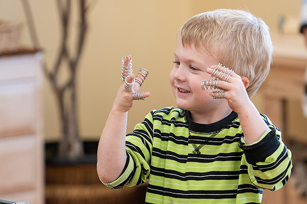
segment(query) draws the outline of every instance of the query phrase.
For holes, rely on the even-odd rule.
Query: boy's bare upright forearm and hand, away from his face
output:
[[[127,56],[124,65],[128,66],[131,56]],[[128,77],[128,83],[133,81],[134,74]],[[109,183],[116,180],[122,173],[126,163],[125,135],[127,112],[133,106],[132,93],[139,91],[140,85],[135,83],[131,91],[124,90],[124,82],[117,92],[111,112],[102,131],[97,152],[97,173],[100,180]],[[149,92],[144,93],[148,97]]]

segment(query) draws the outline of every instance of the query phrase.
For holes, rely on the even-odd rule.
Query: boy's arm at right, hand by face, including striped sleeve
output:
[[[212,68],[207,72],[212,73]],[[244,150],[250,179],[259,188],[277,190],[289,178],[291,151],[282,143],[280,131],[268,118],[260,115],[250,100],[246,91],[249,80],[233,73],[226,81],[221,79],[217,86],[226,90],[224,97],[238,114],[244,134],[240,147]]]

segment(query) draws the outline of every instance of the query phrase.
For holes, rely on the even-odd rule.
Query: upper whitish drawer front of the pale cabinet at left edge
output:
[[[36,97],[34,80],[0,83],[0,138],[35,132]]]

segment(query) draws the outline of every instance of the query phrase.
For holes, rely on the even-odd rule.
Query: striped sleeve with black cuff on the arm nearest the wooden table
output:
[[[289,180],[291,151],[281,141],[280,130],[267,116],[262,114],[262,117],[270,130],[253,144],[247,145],[244,138],[241,138],[239,145],[244,151],[251,182],[261,189],[278,190]]]

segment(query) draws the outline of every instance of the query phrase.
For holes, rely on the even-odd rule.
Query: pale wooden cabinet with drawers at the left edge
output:
[[[0,55],[0,199],[44,202],[41,59],[29,49]]]

